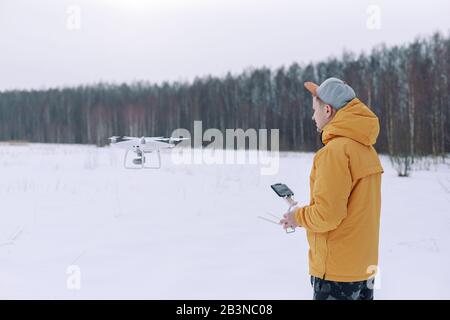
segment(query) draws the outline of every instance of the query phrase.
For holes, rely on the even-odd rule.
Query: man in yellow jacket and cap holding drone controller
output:
[[[280,224],[306,229],[315,300],[372,300],[383,173],[373,147],[379,121],[342,80],[305,87],[324,146],[314,156],[310,204],[294,207]]]

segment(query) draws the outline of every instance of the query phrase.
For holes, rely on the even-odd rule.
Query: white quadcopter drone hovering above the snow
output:
[[[176,146],[177,142],[183,140],[189,140],[189,138],[166,138],[166,137],[126,137],[126,136],[113,136],[110,137],[111,145],[126,149],[123,166],[126,169],[159,169],[161,168],[161,149],[171,149]],[[129,165],[128,154],[130,151],[135,153],[132,163]],[[153,166],[146,165],[146,153],[156,152],[158,163]]]

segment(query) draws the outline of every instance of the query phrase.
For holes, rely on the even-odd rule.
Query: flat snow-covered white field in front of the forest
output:
[[[286,209],[275,182],[308,203],[312,153],[282,153],[273,176],[169,153],[160,170],[126,170],[122,157],[0,145],[0,298],[311,299],[305,231],[256,217]],[[375,297],[449,299],[450,168],[398,178],[381,159]]]

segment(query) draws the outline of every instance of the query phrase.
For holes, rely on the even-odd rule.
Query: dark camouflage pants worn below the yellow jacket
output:
[[[311,276],[313,300],[373,300],[374,281],[337,282]]]

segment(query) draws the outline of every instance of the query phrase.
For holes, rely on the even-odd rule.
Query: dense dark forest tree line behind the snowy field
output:
[[[305,81],[344,79],[380,119],[378,152],[444,157],[450,150],[450,38],[435,33],[369,54],[195,78],[0,92],[0,140],[107,143],[113,135],[168,136],[174,129],[280,129],[280,149],[321,146]]]

